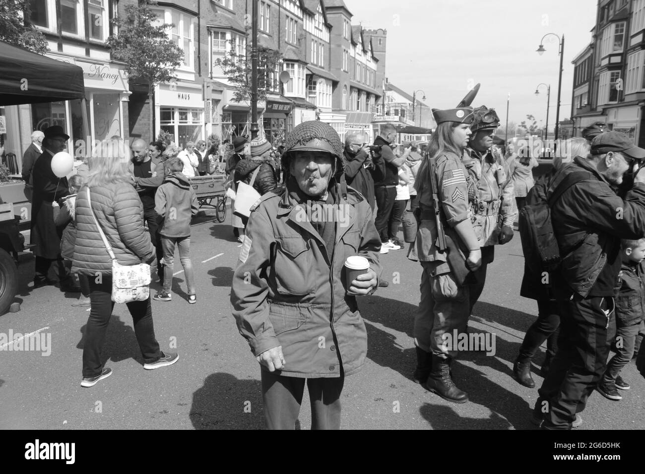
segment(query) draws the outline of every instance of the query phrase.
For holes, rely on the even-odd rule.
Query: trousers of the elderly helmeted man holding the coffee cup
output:
[[[262,370],[264,426],[267,430],[294,430],[307,381],[312,406],[312,430],[341,429],[341,391],[344,377],[301,379]]]

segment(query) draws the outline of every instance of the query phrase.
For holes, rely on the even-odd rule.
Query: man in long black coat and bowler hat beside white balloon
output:
[[[70,139],[63,127],[54,125],[45,130],[43,153],[37,157],[32,177],[34,183],[34,202],[32,203],[31,242],[35,244],[34,288],[54,284],[48,277],[52,262],[58,266],[59,283],[66,291],[80,291],[74,286],[69,271],[64,267],[61,257],[61,233],[54,222],[53,202],[68,195],[67,178],[59,178],[52,171],[52,158],[62,152]]]

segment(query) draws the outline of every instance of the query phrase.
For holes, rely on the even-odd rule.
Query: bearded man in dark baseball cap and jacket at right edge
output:
[[[604,132],[593,139],[588,157],[575,157],[553,179],[552,188],[559,183],[569,187],[551,206],[562,255],[553,276],[562,343],[531,417],[544,429],[570,429],[604,373],[607,332],[615,317],[620,239],[640,239],[645,230],[645,171],[635,175],[624,200],[612,186],[620,186],[635,161],[644,159],[645,150],[624,133]]]

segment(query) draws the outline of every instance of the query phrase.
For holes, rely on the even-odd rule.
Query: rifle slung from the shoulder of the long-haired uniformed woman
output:
[[[437,224],[437,248],[439,252],[446,253],[446,262],[450,266],[450,271],[459,286],[470,282],[470,269],[466,266],[466,257],[461,251],[457,242],[460,239],[455,235],[455,231],[446,230],[442,221],[441,203],[439,202],[439,183],[437,181],[437,159],[430,159],[430,190],[432,191],[432,201],[435,213],[435,222]]]

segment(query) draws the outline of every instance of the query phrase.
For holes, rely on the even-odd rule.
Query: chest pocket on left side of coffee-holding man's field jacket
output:
[[[313,291],[311,245],[301,235],[275,237],[275,282],[277,290],[285,295],[303,296]]]

